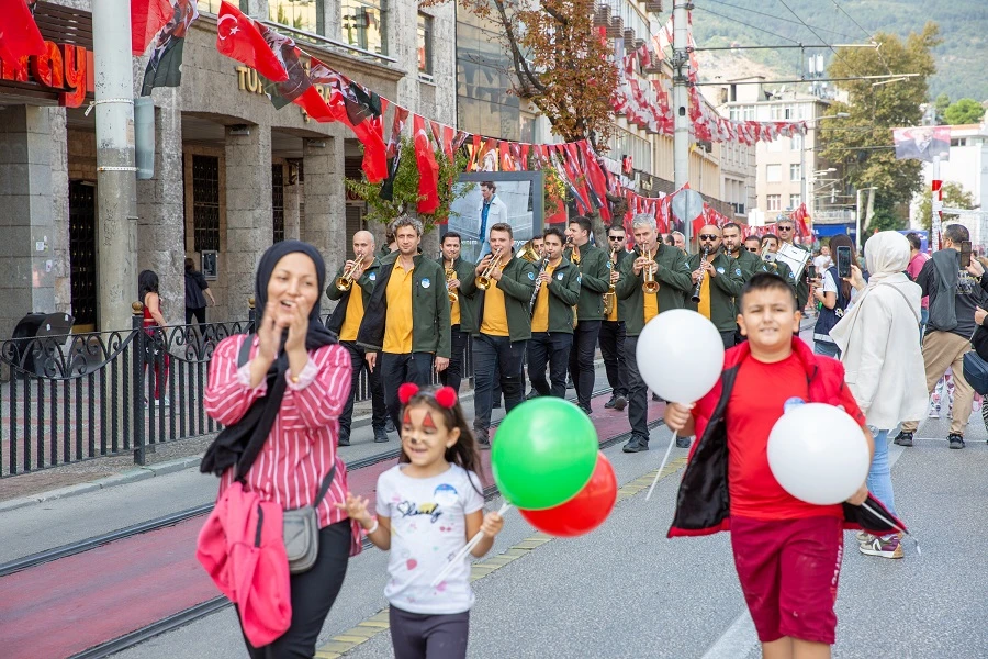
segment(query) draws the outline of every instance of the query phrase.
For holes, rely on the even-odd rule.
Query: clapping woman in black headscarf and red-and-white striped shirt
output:
[[[292,624],[252,659],[310,658],[343,585],[359,529],[334,504],[346,501],[346,466],[336,455],[337,421],[350,387],[350,356],[319,319],[326,267],[297,241],[278,243],[258,264],[257,335],[224,339],[210,362],[206,413],[225,429],[210,446],[202,471],[221,476],[220,496],[239,480],[265,501],[291,510],[312,505],[336,465],[319,503],[319,550],[306,572],[291,576]],[[245,340],[250,348],[242,347]]]

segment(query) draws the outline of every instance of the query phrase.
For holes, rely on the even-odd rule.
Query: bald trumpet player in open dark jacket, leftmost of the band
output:
[[[374,290],[374,282],[381,272],[381,261],[374,258],[374,236],[369,231],[358,231],[353,234],[353,259],[336,271],[329,286],[326,287],[326,297],[336,301],[336,309],[329,316],[326,326],[339,336],[339,345],[350,354],[350,366],[353,376],[350,380],[350,393],[347,404],[339,415],[339,445],[350,445],[350,427],[353,421],[353,398],[360,384],[360,373],[367,369],[368,383],[371,391],[371,425],[374,428],[374,442],[388,442],[388,433],[384,429],[388,420],[388,406],[384,404],[384,384],[381,382],[381,373],[373,370],[367,362],[367,350],[357,344],[357,332],[363,321],[363,310],[370,302]],[[349,275],[350,288],[340,289],[337,282],[344,273]]]

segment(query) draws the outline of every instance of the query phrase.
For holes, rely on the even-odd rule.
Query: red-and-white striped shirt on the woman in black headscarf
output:
[[[268,389],[266,380],[250,387],[250,361],[237,368],[240,345],[247,335],[231,336],[220,343],[210,360],[210,379],[203,404],[206,414],[225,426],[244,417],[250,405]],[[250,359],[257,355],[254,337]],[[308,364],[288,388],[281,410],[257,459],[246,474],[245,489],[257,492],[265,501],[281,504],[284,510],[312,505],[323,478],[334,461],[336,474],[318,507],[319,527],[347,518],[346,511],[334,504],[347,499],[347,468],[337,456],[339,414],[350,393],[351,366],[346,348],[334,344],[308,353]],[[220,493],[234,481],[234,469],[220,479]],[[217,500],[218,500],[217,496]],[[353,523],[350,555],[360,551],[360,528]]]

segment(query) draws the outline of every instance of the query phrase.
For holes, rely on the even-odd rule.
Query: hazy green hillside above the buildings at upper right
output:
[[[930,98],[946,92],[955,100],[988,99],[986,0],[939,2],[935,11],[931,11],[929,0],[696,0],[695,4],[693,30],[699,48],[731,44],[867,43],[875,32],[905,37],[921,31],[928,20],[934,20],[940,25],[943,44],[934,51],[938,71],[930,80]],[[807,55],[818,53],[823,54],[828,64],[833,57],[827,48],[807,51]],[[798,76],[801,66],[806,66],[800,64],[798,48],[748,51],[745,55],[786,77]],[[706,78],[703,71],[700,75]]]

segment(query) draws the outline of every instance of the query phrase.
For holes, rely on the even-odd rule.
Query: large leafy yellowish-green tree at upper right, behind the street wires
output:
[[[824,159],[844,165],[845,178],[855,188],[878,188],[878,209],[905,206],[922,189],[919,160],[896,160],[891,147],[891,129],[918,125],[920,105],[928,96],[927,81],[936,68],[931,49],[941,43],[935,23],[927,23],[919,34],[903,42],[894,34],[877,33],[880,53],[873,48],[838,48],[831,63],[831,78],[857,78],[892,74],[919,74],[888,85],[873,86],[873,80],[846,80],[835,85],[846,91],[849,103],[831,104],[829,114],[846,112],[845,119],[822,123]]]

